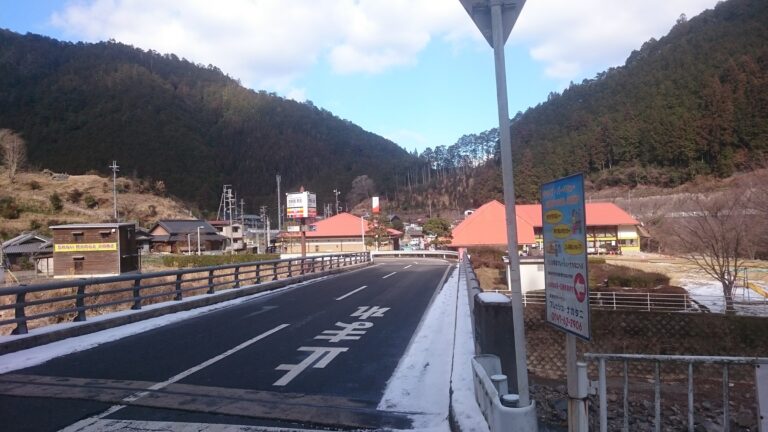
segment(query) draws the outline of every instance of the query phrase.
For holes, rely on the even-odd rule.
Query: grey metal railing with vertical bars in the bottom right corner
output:
[[[728,431],[730,425],[730,401],[729,401],[729,376],[728,368],[732,365],[751,365],[755,369],[755,392],[759,402],[757,412],[757,424],[762,425],[759,430],[768,427],[768,401],[760,398],[760,394],[768,394],[768,374],[761,372],[760,368],[768,369],[768,358],[759,357],[709,357],[709,356],[670,356],[670,355],[641,355],[641,354],[594,354],[585,353],[584,357],[598,362],[598,398],[599,398],[599,424],[600,431],[608,431],[608,396],[606,390],[606,362],[623,363],[623,425],[622,430],[629,430],[629,362],[651,362],[653,369],[654,386],[654,430],[661,431],[661,376],[662,363],[684,363],[688,366],[688,430],[694,431],[694,364],[719,364],[722,366],[722,394],[723,394],[723,430]],[[758,426],[760,428],[760,426]]]

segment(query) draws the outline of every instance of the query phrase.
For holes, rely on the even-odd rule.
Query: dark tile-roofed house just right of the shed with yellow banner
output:
[[[159,253],[219,252],[227,240],[201,219],[161,220],[149,233],[152,235],[151,250]]]

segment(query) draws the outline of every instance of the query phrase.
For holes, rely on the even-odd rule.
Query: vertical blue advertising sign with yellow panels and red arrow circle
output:
[[[589,278],[584,176],[541,186],[547,322],[589,340]]]

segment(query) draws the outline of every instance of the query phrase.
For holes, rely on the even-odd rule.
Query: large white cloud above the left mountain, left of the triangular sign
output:
[[[469,33],[463,13],[443,0],[81,0],[51,21],[78,39],[174,53],[287,91],[320,59],[337,73],[413,64],[434,35]]]

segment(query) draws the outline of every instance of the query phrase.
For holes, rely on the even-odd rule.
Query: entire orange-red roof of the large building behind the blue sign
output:
[[[613,203],[587,203],[587,226],[639,225],[640,223]],[[534,227],[541,228],[541,205],[516,205],[517,243],[534,244]],[[504,204],[491,201],[478,208],[453,229],[452,247],[506,246],[507,228]]]

